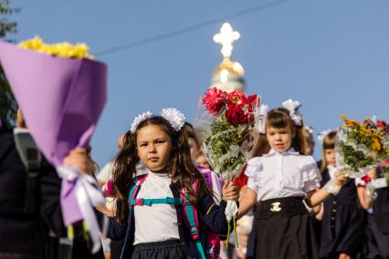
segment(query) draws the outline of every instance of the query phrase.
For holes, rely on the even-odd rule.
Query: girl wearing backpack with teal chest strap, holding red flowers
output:
[[[114,240],[125,237],[121,258],[204,258],[196,232],[198,238],[203,228],[222,236],[228,231],[226,200],[237,201],[237,187],[226,182],[224,201],[215,204],[191,160],[183,127],[180,111],[163,109],[161,116],[145,112],[135,118],[124,136],[114,162],[117,211],[109,232]],[[139,161],[148,170],[145,177],[135,177]],[[198,227],[186,226],[191,208]]]

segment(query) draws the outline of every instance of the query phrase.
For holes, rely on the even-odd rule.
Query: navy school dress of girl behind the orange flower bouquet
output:
[[[321,185],[330,181],[324,171]],[[321,258],[338,258],[345,253],[355,258],[363,250],[365,212],[358,202],[355,181],[348,179],[338,195],[331,195],[324,204],[321,221]]]

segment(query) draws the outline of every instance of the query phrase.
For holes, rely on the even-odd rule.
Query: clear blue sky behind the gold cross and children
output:
[[[276,3],[268,8],[258,5]],[[246,70],[247,93],[270,107],[300,100],[315,132],[352,119],[389,119],[389,1],[387,0],[131,0],[13,1],[21,12],[16,41],[85,42],[92,54],[110,47],[216,21],[188,33],[98,56],[109,67],[108,102],[92,139],[102,166],[140,112],[164,107],[188,120],[221,62],[212,37],[223,22],[240,32],[232,59]],[[244,16],[224,19],[241,10]],[[257,11],[254,11],[257,10]],[[317,145],[315,156],[320,156]]]

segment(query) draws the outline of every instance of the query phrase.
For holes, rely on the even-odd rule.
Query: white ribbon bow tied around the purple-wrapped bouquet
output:
[[[89,228],[89,235],[93,243],[91,253],[96,254],[101,247],[100,226],[93,207],[104,204],[104,195],[97,181],[92,176],[80,174],[77,169],[64,165],[58,166],[57,171],[59,177],[63,178],[64,181],[76,181],[75,194],[79,204],[79,210]],[[103,235],[107,233],[108,223],[108,218],[104,215],[104,223],[101,231]]]

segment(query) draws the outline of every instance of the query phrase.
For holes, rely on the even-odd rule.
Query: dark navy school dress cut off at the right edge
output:
[[[373,212],[367,216],[366,258],[389,258],[389,187],[376,189],[375,194]]]

